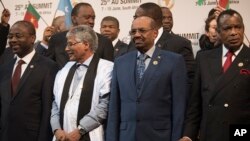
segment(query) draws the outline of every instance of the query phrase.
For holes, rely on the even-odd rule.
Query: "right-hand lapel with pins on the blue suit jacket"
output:
[[[143,93],[143,91],[146,90],[148,87],[150,80],[152,79],[153,75],[155,74],[155,71],[160,65],[161,61],[161,51],[159,48],[155,48],[155,51],[153,53],[153,56],[151,58],[151,61],[149,62],[148,68],[146,69],[143,78],[142,78],[142,88],[141,91],[138,94],[138,97],[140,97]]]

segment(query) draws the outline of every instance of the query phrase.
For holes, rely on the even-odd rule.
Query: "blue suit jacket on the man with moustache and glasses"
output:
[[[183,58],[156,48],[142,85],[136,62],[137,51],[115,60],[106,141],[178,140],[187,97]]]

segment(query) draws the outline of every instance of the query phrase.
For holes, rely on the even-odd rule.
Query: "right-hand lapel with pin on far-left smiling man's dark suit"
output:
[[[22,86],[25,84],[26,79],[29,77],[30,73],[34,70],[35,67],[37,66],[37,61],[39,60],[39,56],[37,53],[35,53],[35,55],[33,56],[33,58],[31,59],[30,63],[28,64],[26,70],[24,71],[20,82],[17,86],[17,90],[16,90],[16,94],[14,94],[14,97],[12,98],[12,100],[19,94],[20,89],[22,88]]]

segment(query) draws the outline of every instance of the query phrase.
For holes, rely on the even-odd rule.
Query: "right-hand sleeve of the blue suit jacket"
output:
[[[183,57],[179,57],[172,72],[172,141],[181,138],[187,102],[187,72]]]

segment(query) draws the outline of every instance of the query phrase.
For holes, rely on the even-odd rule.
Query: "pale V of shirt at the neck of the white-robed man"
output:
[[[74,80],[73,80],[72,94],[74,94],[79,82],[81,81],[83,77],[84,68],[88,68],[88,66],[85,64],[77,64],[77,69],[75,71]]]

